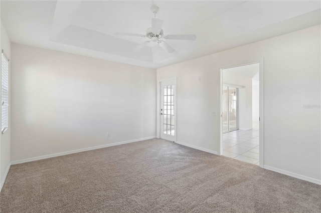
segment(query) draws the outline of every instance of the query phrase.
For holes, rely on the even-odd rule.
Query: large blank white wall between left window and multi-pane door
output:
[[[12,94],[12,161],[155,136],[152,68],[13,43]]]

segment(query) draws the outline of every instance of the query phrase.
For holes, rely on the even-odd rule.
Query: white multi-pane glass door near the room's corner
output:
[[[176,80],[161,82],[161,138],[176,142]]]

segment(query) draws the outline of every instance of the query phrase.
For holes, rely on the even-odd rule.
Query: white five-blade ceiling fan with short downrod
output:
[[[116,32],[117,35],[129,35],[129,36],[138,36],[138,37],[147,37],[149,40],[139,44],[136,46],[133,51],[138,51],[144,46],[146,46],[150,41],[157,43],[163,49],[165,49],[168,53],[172,53],[175,49],[170,46],[164,39],[172,39],[172,40],[195,40],[195,34],[178,34],[178,35],[164,35],[164,30],[162,29],[164,20],[156,18],[156,13],[159,11],[158,6],[151,6],[151,11],[154,13],[154,17],[151,19],[151,27],[146,29],[146,34],[134,34],[134,33],[125,33],[125,32]]]

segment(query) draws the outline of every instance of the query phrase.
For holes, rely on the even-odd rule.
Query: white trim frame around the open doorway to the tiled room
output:
[[[260,167],[264,168],[264,85],[263,85],[263,79],[264,79],[264,75],[263,75],[263,62],[264,62],[264,58],[256,58],[256,59],[252,59],[252,60],[246,60],[246,61],[239,61],[239,62],[234,62],[232,64],[228,64],[225,66],[222,66],[220,68],[220,93],[219,93],[219,99],[220,99],[220,152],[219,154],[222,155],[223,153],[223,128],[222,128],[222,92],[223,92],[223,69],[226,68],[232,68],[232,67],[236,67],[236,66],[242,66],[242,65],[248,65],[248,64],[252,64],[252,63],[259,63],[259,73],[260,73],[260,79],[259,79],[259,83],[260,83],[260,100],[259,100],[259,109],[260,109],[260,122],[259,122],[259,133],[260,133],[260,137],[259,137],[259,145],[260,145],[260,159],[259,159],[259,165]]]

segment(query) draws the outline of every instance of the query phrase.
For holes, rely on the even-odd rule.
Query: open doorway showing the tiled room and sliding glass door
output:
[[[221,69],[222,154],[256,165],[263,154],[259,122],[262,71],[260,62]]]

